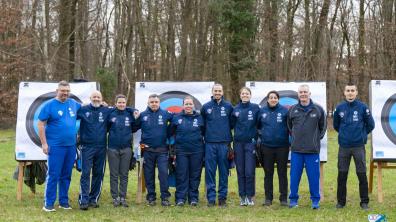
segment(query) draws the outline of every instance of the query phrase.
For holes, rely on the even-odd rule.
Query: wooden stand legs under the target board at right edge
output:
[[[372,153],[373,149],[371,149]],[[370,172],[369,172],[369,193],[373,193],[374,170],[377,169],[377,196],[378,202],[384,202],[384,193],[382,190],[382,170],[396,169],[395,161],[388,160],[374,160],[373,155],[370,157]]]

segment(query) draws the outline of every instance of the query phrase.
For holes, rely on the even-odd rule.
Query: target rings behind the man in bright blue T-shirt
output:
[[[41,141],[38,135],[38,127],[37,127],[37,123],[39,120],[38,116],[44,105],[47,104],[51,99],[55,98],[55,96],[56,96],[56,92],[50,92],[37,97],[37,99],[35,99],[32,105],[29,107],[29,110],[26,114],[25,126],[26,126],[27,134],[29,135],[29,138],[34,142],[34,144],[36,144],[39,147],[41,147]],[[82,103],[81,100],[73,94],[70,94],[70,98],[73,98],[77,102]],[[77,128],[78,127],[79,126],[77,126]]]

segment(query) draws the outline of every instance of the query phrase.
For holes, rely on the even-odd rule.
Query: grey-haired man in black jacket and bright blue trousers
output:
[[[287,126],[291,132],[289,207],[298,206],[298,187],[305,167],[312,209],[320,203],[320,140],[326,133],[326,115],[323,108],[311,100],[308,85],[298,88],[298,104],[289,109]]]

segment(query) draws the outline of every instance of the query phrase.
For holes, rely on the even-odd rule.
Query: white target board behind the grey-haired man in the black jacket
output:
[[[319,104],[326,111],[326,82],[246,82],[246,87],[252,91],[251,102],[257,103],[262,107],[267,102],[267,93],[276,90],[279,93],[279,103],[283,106],[290,107],[297,104],[298,87],[307,84],[311,91],[311,99]],[[320,141],[320,161],[327,161],[327,131],[323,139]]]

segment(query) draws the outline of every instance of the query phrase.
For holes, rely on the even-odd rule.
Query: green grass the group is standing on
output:
[[[228,207],[206,207],[203,181],[200,187],[200,206],[192,208],[161,206],[147,207],[145,204],[135,204],[136,171],[130,173],[128,186],[129,208],[114,208],[111,205],[110,185],[108,170],[106,172],[103,192],[100,200],[100,208],[88,211],[78,210],[78,189],[80,174],[73,172],[72,184],[69,197],[71,211],[57,210],[55,213],[45,213],[41,210],[43,204],[44,186],[38,186],[36,195],[30,193],[27,186],[23,188],[22,201],[16,200],[16,181],[12,179],[17,162],[14,158],[15,133],[11,130],[0,131],[0,221],[367,221],[368,214],[386,214],[388,221],[396,218],[396,174],[395,170],[383,171],[384,203],[377,201],[376,186],[370,195],[370,207],[368,212],[359,207],[358,183],[355,175],[355,166],[351,164],[348,180],[347,207],[342,210],[335,209],[336,181],[337,181],[337,141],[334,132],[329,133],[328,163],[325,164],[324,194],[325,200],[321,202],[320,210],[310,208],[309,190],[307,178],[304,176],[300,185],[299,207],[288,209],[279,206],[277,178],[274,178],[274,204],[271,207],[263,207],[264,199],[263,170],[256,172],[256,206],[238,206],[238,188],[236,172],[232,171],[229,177]],[[369,156],[369,152],[367,152]],[[202,176],[204,173],[202,174]],[[202,177],[203,178],[203,177]],[[376,185],[376,178],[374,177]],[[158,184],[157,184],[158,189]],[[170,189],[172,196],[174,188]],[[158,195],[158,192],[157,192]],[[173,199],[172,199],[173,200]]]

